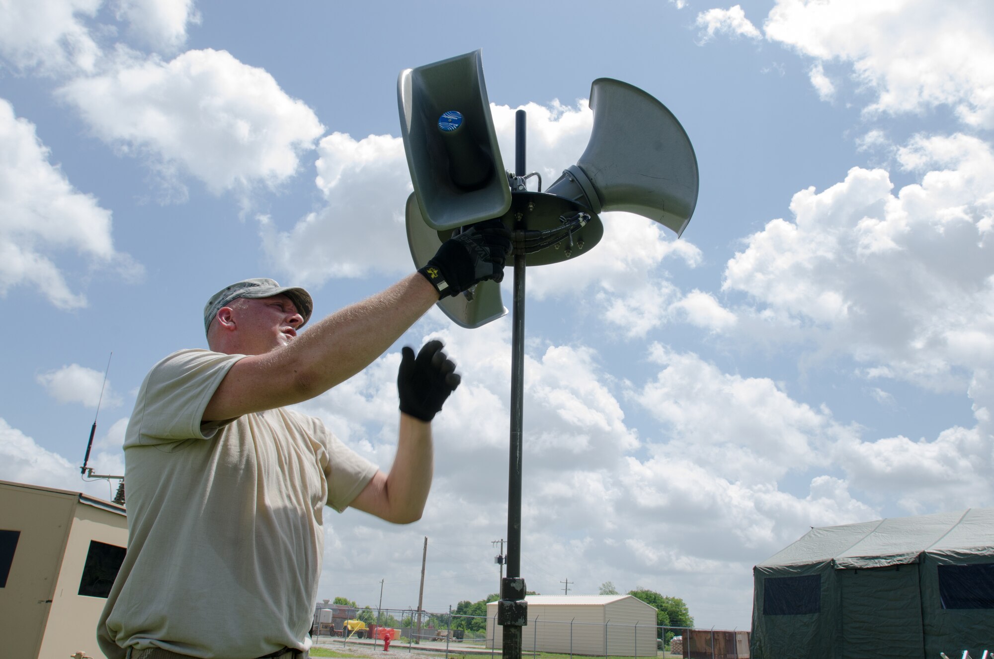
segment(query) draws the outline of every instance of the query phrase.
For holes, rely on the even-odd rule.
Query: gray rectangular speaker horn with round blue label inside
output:
[[[511,207],[482,51],[401,72],[401,136],[421,217],[449,230],[500,217]]]

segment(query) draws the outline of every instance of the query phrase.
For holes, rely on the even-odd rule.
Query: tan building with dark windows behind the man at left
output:
[[[126,546],[122,506],[0,481],[0,656],[101,659],[96,621]]]

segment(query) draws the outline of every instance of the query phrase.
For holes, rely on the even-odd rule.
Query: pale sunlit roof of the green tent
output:
[[[832,560],[858,565],[861,558],[886,557],[891,564],[917,562],[924,551],[989,549],[994,541],[994,508],[890,518],[811,529],[757,567],[801,565]]]

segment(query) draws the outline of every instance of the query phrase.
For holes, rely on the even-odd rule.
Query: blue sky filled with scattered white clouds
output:
[[[413,265],[396,81],[483,49],[505,163],[551,182],[590,83],[662,101],[700,165],[681,240],[605,213],[528,275],[523,575],[644,586],[749,624],[750,568],[811,526],[991,506],[994,9],[980,0],[535,3],[0,0],[0,479],[109,497],[148,368],[205,344],[232,281],[316,314]],[[510,299],[510,280],[505,299]],[[301,407],[388,467],[400,346],[442,337],[424,518],[330,515],[322,597],[496,590],[510,318],[437,310]]]

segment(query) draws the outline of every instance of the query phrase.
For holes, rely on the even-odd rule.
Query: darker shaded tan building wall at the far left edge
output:
[[[20,532],[7,583],[0,588],[4,656],[38,656],[74,508],[76,497],[70,494],[0,483],[0,529]]]

